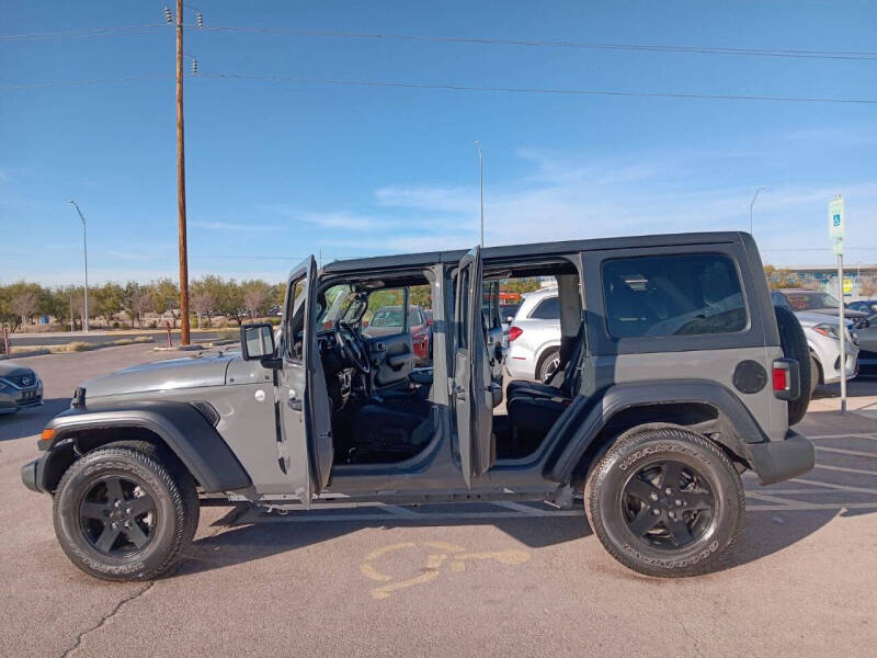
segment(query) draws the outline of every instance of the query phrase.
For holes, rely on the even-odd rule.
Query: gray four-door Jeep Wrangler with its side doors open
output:
[[[503,388],[498,284],[555,277],[561,364]],[[432,367],[368,309],[432,300]],[[399,293],[396,297],[390,294]],[[406,320],[407,325],[408,320]],[[405,329],[405,327],[402,327]],[[200,504],[517,500],[568,507],[650,576],[715,569],[739,535],[740,475],[813,467],[789,427],[809,401],[795,316],[774,309],[752,238],[711,232],[475,248],[289,275],[283,321],[240,352],[87,382],[22,468],[61,547],[111,580],[155,578]],[[503,405],[504,401],[504,405]]]

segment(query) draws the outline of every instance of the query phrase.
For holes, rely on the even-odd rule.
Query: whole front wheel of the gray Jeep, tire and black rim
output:
[[[73,462],[53,508],[55,532],[70,560],[106,580],[166,572],[197,523],[194,483],[175,470],[149,444],[144,450],[111,444]]]

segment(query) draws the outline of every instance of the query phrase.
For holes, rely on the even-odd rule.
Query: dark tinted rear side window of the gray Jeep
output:
[[[615,338],[743,331],[749,320],[733,262],[717,253],[603,263],[606,327]]]

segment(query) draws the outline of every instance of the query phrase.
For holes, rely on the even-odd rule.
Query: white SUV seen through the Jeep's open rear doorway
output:
[[[547,382],[560,364],[560,305],[556,287],[525,293],[509,327],[505,370],[515,379]]]

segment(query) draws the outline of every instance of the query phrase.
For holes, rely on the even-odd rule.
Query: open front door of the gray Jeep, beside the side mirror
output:
[[[305,507],[329,483],[334,449],[331,408],[317,337],[317,262],[305,259],[292,274],[284,305],[283,368],[277,373],[277,447],[288,491]]]

